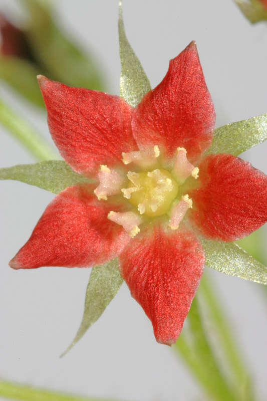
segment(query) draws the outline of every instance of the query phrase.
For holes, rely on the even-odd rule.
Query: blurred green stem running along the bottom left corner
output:
[[[4,380],[0,380],[0,395],[9,399],[24,401],[104,401],[103,398],[67,395],[56,391],[37,389],[28,385],[11,383]],[[105,401],[108,400],[105,399]]]

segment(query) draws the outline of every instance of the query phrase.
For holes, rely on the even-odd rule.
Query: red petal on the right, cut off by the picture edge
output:
[[[235,241],[267,221],[267,176],[230,154],[214,154],[199,165],[199,189],[191,216],[213,240]]]

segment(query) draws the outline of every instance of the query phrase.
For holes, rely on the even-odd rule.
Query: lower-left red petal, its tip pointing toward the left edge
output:
[[[91,185],[75,185],[57,195],[10,266],[92,267],[116,257],[130,238],[107,219],[110,210],[120,208],[92,193]]]

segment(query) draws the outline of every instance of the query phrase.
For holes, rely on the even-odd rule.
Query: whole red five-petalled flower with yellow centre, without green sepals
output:
[[[62,156],[95,183],[56,196],[11,267],[91,267],[119,255],[156,340],[174,343],[204,268],[199,238],[233,241],[260,227],[267,177],[230,154],[205,156],[215,113],[194,42],[136,108],[42,76],[40,86]]]

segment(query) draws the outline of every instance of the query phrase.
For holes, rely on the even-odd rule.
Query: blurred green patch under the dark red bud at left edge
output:
[[[36,79],[40,69],[19,57],[0,56],[0,78],[39,107],[45,107]]]

